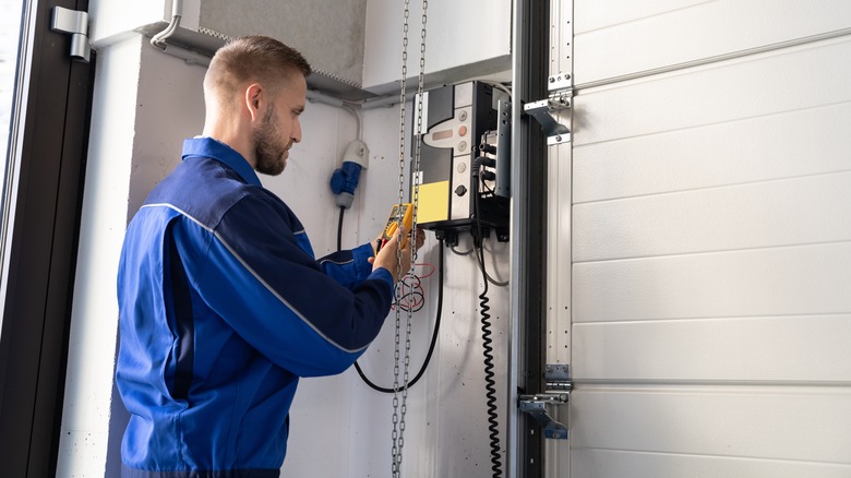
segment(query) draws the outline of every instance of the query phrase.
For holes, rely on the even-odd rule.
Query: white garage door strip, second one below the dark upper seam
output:
[[[851,170],[849,124],[846,101],[578,146],[574,203]]]

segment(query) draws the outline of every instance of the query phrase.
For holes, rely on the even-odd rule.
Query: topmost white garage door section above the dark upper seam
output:
[[[628,4],[624,7],[624,3]],[[575,84],[706,61],[851,27],[851,3],[819,0],[576,2]]]

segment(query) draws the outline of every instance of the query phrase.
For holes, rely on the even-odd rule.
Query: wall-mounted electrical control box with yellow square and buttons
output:
[[[490,84],[467,82],[424,92],[417,101],[417,224],[455,232],[477,232],[480,225],[507,240],[510,98]]]

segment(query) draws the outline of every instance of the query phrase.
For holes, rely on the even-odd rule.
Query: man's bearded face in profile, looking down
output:
[[[268,104],[253,131],[257,172],[277,176],[287,166],[289,148],[301,141],[299,116],[304,110],[307,89],[304,77],[293,75]]]

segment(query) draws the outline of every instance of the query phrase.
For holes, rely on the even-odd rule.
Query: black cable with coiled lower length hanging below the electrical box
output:
[[[482,235],[481,227],[481,211],[479,207],[479,170],[482,163],[487,158],[476,158],[472,162],[471,175],[474,190],[474,207],[476,212],[476,229],[478,237],[474,238],[474,248],[477,248],[477,259],[481,266],[482,282],[484,283],[484,289],[479,294],[479,313],[481,314],[481,342],[484,355],[484,391],[486,391],[486,406],[488,408],[488,431],[491,447],[491,471],[493,471],[494,478],[502,477],[502,458],[500,456],[500,421],[496,414],[496,380],[493,372],[493,338],[491,338],[491,314],[489,311],[491,307],[488,304],[490,299],[488,298],[488,272],[484,268],[484,237]],[[476,244],[478,242],[478,247]]]

